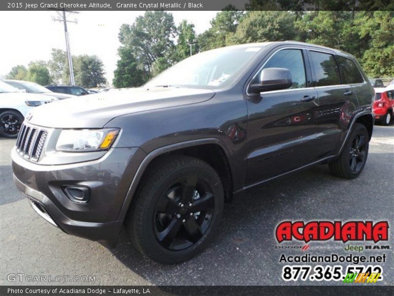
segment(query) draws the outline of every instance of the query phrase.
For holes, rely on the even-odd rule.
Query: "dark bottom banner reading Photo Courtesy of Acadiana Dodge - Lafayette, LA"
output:
[[[61,293],[61,289],[66,292]],[[88,290],[90,289],[90,290]],[[119,289],[129,291],[128,294]],[[147,292],[149,289],[149,293]],[[34,291],[42,290],[41,293]],[[84,291],[81,293],[81,291]],[[138,290],[139,294],[136,293]],[[18,292],[19,291],[19,292]],[[49,291],[49,293],[47,293]],[[55,292],[56,291],[56,292]],[[105,292],[104,292],[105,291]],[[1,286],[1,296],[260,296],[260,295],[368,295],[392,296],[393,286],[342,284],[341,286]]]

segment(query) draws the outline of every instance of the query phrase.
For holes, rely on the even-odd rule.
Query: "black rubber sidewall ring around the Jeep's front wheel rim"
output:
[[[156,239],[153,230],[154,211],[157,201],[162,196],[164,190],[166,190],[168,186],[173,182],[186,176],[196,176],[204,180],[208,185],[210,185],[215,196],[215,209],[207,231],[196,244],[184,250],[171,251],[162,247]],[[185,165],[179,169],[174,170],[173,172],[162,178],[157,184],[155,184],[155,186],[151,190],[149,190],[149,195],[147,199],[144,200],[142,214],[143,221],[141,221],[142,227],[140,228],[141,233],[139,233],[139,237],[141,238],[141,244],[144,246],[149,246],[150,248],[150,254],[148,254],[148,257],[154,257],[158,260],[166,258],[170,259],[170,261],[173,262],[181,262],[193,257],[203,248],[203,245],[205,245],[207,240],[210,238],[210,234],[213,233],[218,227],[219,220],[223,211],[223,206],[223,186],[219,176],[213,169],[207,170],[207,168],[198,164]]]

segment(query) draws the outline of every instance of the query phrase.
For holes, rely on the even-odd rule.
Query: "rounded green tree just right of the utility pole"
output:
[[[96,55],[79,55],[73,58],[75,84],[86,88],[105,85],[104,65]]]

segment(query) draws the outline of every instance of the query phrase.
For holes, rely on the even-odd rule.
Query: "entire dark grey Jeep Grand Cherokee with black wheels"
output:
[[[310,165],[357,177],[374,92],[355,58],[299,42],[215,49],[144,86],[35,109],[12,150],[17,187],[66,233],[163,263],[212,238],[225,200]],[[78,102],[76,102],[76,100]]]

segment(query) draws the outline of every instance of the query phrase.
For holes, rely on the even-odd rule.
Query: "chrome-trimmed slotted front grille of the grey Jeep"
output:
[[[16,140],[16,151],[31,161],[38,161],[47,135],[46,130],[22,124]]]

